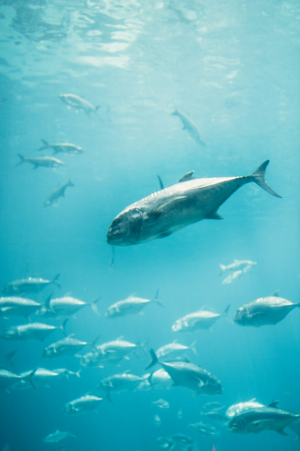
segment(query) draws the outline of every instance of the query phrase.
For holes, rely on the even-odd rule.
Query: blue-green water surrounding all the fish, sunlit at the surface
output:
[[[185,433],[199,450],[297,450],[299,442],[274,431],[232,434],[217,426],[214,437],[194,433],[201,407],[226,407],[257,398],[280,400],[300,411],[300,312],[275,326],[240,327],[221,318],[212,331],[175,336],[176,319],[202,306],[233,317],[242,304],[279,289],[299,302],[300,8],[298,1],[4,0],[0,5],[1,276],[0,286],[23,277],[52,279],[32,299],[72,293],[90,302],[101,296],[101,317],[85,308],[71,317],[67,333],[88,342],[124,336],[157,349],[178,338],[197,340],[195,364],[216,375],[222,396],[193,396],[184,387],[112,393],[97,412],[62,413],[65,403],[91,392],[105,396],[103,377],[130,370],[142,376],[150,360],[139,353],[120,366],[82,368],[50,388],[0,393],[0,448],[58,449],[42,439],[56,429],[76,435],[67,450],[159,450],[157,437]],[[72,93],[100,105],[99,117],[76,113],[59,99]],[[178,108],[197,124],[206,147],[189,139]],[[37,152],[40,139],[83,147],[59,153],[64,166],[18,167],[18,153]],[[255,184],[239,189],[220,207],[225,221],[202,221],[137,246],[106,242],[113,218],[127,205],[170,186],[188,171],[196,177],[251,174],[269,159],[266,180],[282,199]],[[71,178],[57,205],[43,202]],[[222,284],[219,263],[257,262],[250,272]],[[132,293],[152,299],[143,315],[107,319],[106,309]],[[35,320],[33,315],[31,320]],[[0,328],[26,322],[0,318]],[[59,320],[48,320],[59,324]],[[37,367],[80,368],[76,357],[42,359],[45,342],[0,339],[1,366],[15,373]],[[17,350],[14,366],[4,355]],[[156,367],[157,369],[158,367]],[[163,398],[170,409],[152,401]],[[177,417],[178,410],[182,419]],[[161,417],[161,425],[153,417]],[[180,449],[177,445],[175,449]]]

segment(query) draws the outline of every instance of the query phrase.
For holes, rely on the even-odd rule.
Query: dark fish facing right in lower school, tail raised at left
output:
[[[221,382],[206,369],[188,362],[159,362],[153,349],[152,362],[147,368],[159,363],[173,379],[173,385],[183,386],[202,395],[221,395]]]

